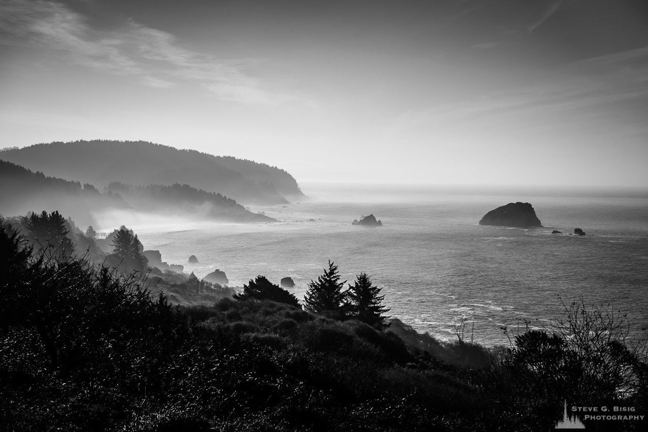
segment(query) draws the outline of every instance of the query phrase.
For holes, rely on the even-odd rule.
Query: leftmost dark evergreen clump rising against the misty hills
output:
[[[72,240],[67,236],[69,229],[61,214],[54,210],[40,214],[32,213],[25,218],[23,225],[27,228],[27,238],[34,245],[51,247],[57,253],[70,255],[74,251]]]

